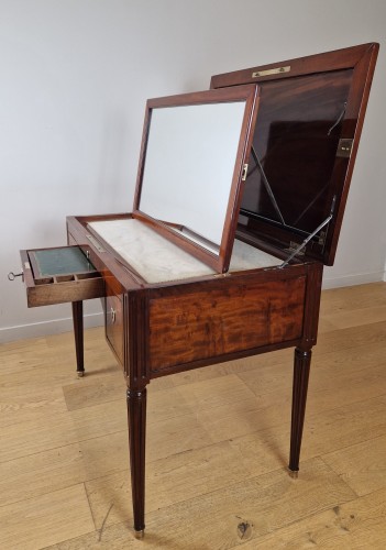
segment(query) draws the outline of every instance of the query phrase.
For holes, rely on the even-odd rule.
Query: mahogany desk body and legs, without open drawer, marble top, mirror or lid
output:
[[[124,218],[130,216],[119,217]],[[99,235],[92,234],[92,243],[87,237],[90,222],[111,219],[68,218],[67,231],[68,243],[89,254],[106,283],[106,337],[128,384],[134,529],[144,529],[146,385],[153,378],[295,348],[289,469],[297,472],[322,264],[294,262],[284,268],[148,284]],[[81,358],[81,305],[75,304]],[[82,363],[78,370],[82,371]]]

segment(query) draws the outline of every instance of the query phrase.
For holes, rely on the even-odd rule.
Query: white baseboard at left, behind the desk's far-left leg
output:
[[[84,316],[85,328],[100,327],[103,324],[103,314],[90,314]],[[59,334],[73,330],[73,318],[52,319],[49,321],[35,322],[33,324],[20,324],[19,327],[7,327],[0,329],[0,343],[24,340],[26,338],[46,337]]]

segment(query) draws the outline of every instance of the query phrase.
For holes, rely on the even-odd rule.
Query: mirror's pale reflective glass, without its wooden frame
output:
[[[245,102],[153,109],[140,209],[221,244]]]

